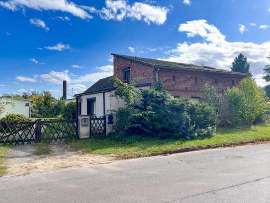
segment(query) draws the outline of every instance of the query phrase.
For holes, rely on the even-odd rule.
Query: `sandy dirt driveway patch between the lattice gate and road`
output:
[[[112,155],[91,155],[68,145],[49,145],[49,155],[36,155],[34,145],[14,146],[5,160],[6,176],[25,175],[55,169],[100,164],[115,160]]]

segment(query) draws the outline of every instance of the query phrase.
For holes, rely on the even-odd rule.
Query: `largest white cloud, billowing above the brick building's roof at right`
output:
[[[254,76],[263,74],[263,68],[270,61],[270,41],[261,44],[253,42],[230,42],[214,25],[206,20],[193,20],[180,24],[180,32],[186,32],[187,37],[200,36],[202,42],[181,42],[177,48],[165,52],[169,56],[164,60],[204,64],[211,67],[230,70],[230,66],[240,52],[247,56],[251,63],[251,71]]]

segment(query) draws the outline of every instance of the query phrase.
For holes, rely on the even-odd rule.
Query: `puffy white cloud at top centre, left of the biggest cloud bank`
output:
[[[135,2],[129,5],[126,0],[105,0],[105,7],[99,12],[100,17],[105,20],[122,21],[125,17],[136,20],[143,20],[150,24],[163,24],[167,19],[169,9],[167,7],[160,7],[149,5],[142,2]]]

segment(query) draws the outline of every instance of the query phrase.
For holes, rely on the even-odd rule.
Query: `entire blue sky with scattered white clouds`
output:
[[[243,52],[260,86],[270,0],[0,0],[0,94],[83,92],[110,53],[229,69]]]

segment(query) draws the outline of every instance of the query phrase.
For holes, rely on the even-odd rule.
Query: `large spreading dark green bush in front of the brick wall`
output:
[[[132,97],[127,95],[125,100],[137,99],[127,102],[126,107],[115,111],[116,131],[160,138],[189,139],[208,137],[215,133],[217,116],[214,108],[189,99],[174,98],[163,91],[161,85],[156,87],[159,88],[139,91],[135,91],[134,88]],[[122,95],[121,93],[120,96]],[[118,97],[117,93],[114,96]]]

